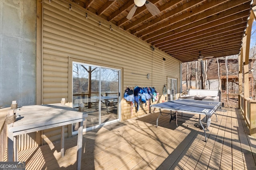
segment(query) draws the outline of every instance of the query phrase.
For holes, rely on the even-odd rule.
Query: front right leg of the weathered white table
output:
[[[82,144],[83,144],[83,121],[78,123],[78,136],[77,136],[77,169],[81,169],[81,156],[82,156]]]

